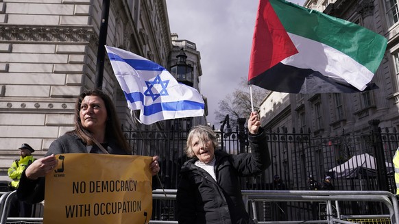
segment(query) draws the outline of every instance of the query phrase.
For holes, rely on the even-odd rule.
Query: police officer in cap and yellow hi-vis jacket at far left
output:
[[[8,169],[8,177],[12,179],[11,188],[12,190],[16,190],[19,185],[19,179],[21,178],[22,172],[36,160],[32,153],[35,150],[28,145],[27,143],[23,143],[19,148],[19,160],[14,160],[12,162],[11,167]],[[12,201],[12,207],[10,209],[10,215],[12,217],[29,217],[32,213],[32,205],[25,203],[23,201],[18,201],[16,197],[14,197],[14,201]]]

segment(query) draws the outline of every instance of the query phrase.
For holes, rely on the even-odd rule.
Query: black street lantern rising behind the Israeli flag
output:
[[[172,75],[178,82],[193,87],[193,66],[186,63],[187,55],[184,53],[184,48],[180,49],[176,58],[178,58],[178,63],[171,66]]]

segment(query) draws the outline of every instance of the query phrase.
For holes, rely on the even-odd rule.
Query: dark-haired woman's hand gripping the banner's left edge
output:
[[[27,166],[25,170],[25,175],[27,179],[38,179],[39,177],[44,177],[47,173],[50,173],[56,169],[58,160],[56,155],[49,155],[38,160],[34,160],[30,166]]]

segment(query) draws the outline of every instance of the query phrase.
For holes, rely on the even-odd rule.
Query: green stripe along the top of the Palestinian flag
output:
[[[322,42],[345,53],[375,73],[383,59],[387,39],[369,29],[303,8],[284,0],[269,0],[286,31]]]

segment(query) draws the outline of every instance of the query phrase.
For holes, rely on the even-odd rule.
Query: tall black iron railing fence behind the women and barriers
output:
[[[394,175],[391,170],[386,169],[386,179],[378,169],[378,162],[391,164],[396,149],[399,146],[399,134],[396,129],[385,128],[383,132],[378,129],[378,122],[370,122],[370,132],[347,133],[344,130],[328,137],[314,137],[312,133],[291,133],[287,129],[269,130],[267,140],[271,155],[271,166],[256,177],[243,177],[241,179],[242,190],[309,190],[307,177],[313,175],[315,179],[322,182],[325,175],[333,177],[335,190],[387,190],[395,193],[396,186]],[[188,129],[171,130],[167,132],[125,131],[125,136],[134,145],[135,153],[139,155],[160,155],[161,171],[159,173],[162,186],[166,189],[176,189],[180,167],[187,160],[184,155],[186,136]],[[236,127],[230,135],[216,132],[219,146],[228,153],[247,153],[250,147],[247,142],[247,134],[243,126]],[[223,136],[223,138],[221,138]],[[223,144],[220,144],[223,142]],[[382,153],[381,153],[382,152]],[[372,157],[363,161],[350,160],[350,158],[367,153]],[[332,171],[335,167],[350,163],[354,175],[338,177]],[[362,163],[372,164],[375,169],[361,167]],[[337,170],[337,169],[336,169]],[[280,175],[284,182],[284,189],[276,189],[274,186],[274,175]],[[265,207],[270,205],[265,204]],[[304,206],[309,214],[313,210],[309,203],[298,205],[288,203],[287,206]],[[278,208],[272,208],[278,209]],[[153,213],[156,219],[167,220],[167,216],[173,213],[173,206],[169,204],[154,204]],[[345,201],[341,210],[348,214],[362,215],[370,212],[382,213],[383,211],[376,202]],[[296,216],[295,213],[287,214]],[[265,219],[271,219],[266,217]]]

